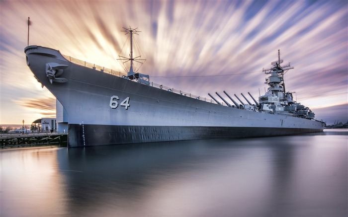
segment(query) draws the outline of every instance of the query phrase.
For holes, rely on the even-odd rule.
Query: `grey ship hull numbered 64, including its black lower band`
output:
[[[141,84],[74,64],[49,48],[28,46],[25,53],[35,77],[67,111],[70,147],[268,137],[321,132],[325,126],[316,120],[222,106]],[[52,78],[47,64],[64,69]]]

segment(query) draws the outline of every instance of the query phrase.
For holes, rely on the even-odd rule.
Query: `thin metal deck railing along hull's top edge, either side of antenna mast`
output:
[[[118,72],[118,71],[115,71],[115,70],[110,70],[110,69],[107,69],[107,68],[104,68],[104,67],[101,67],[101,66],[97,66],[95,64],[87,63],[86,61],[82,61],[82,60],[79,60],[79,59],[76,59],[76,58],[73,58],[73,57],[70,57],[70,56],[63,55],[63,57],[65,59],[67,59],[68,61],[74,63],[74,64],[77,64],[77,65],[80,65],[80,66],[84,66],[84,67],[87,67],[87,68],[90,68],[90,69],[94,69],[94,70],[97,70],[97,71],[100,71],[100,72],[109,73],[109,74],[112,74],[112,75],[115,75],[115,76],[119,76],[119,77],[127,76],[127,74],[125,74],[125,73],[121,73],[121,72]],[[177,93],[177,94],[180,94],[180,95],[184,95],[184,96],[187,96],[187,97],[199,99],[199,100],[202,100],[202,101],[205,101],[205,102],[210,102],[210,103],[217,104],[212,99],[209,99],[209,98],[207,99],[205,97],[200,97],[200,96],[197,96],[197,95],[193,95],[191,93],[186,93],[186,92],[183,92],[181,90],[174,89],[173,87],[163,86],[162,84],[157,84],[157,83],[154,83],[154,82],[150,82],[150,86],[153,86],[153,87],[156,87],[156,88],[159,88],[159,89],[164,89],[164,90],[167,90],[167,91],[171,91],[171,92],[174,92],[174,93]],[[227,106],[223,102],[221,102],[221,104]]]

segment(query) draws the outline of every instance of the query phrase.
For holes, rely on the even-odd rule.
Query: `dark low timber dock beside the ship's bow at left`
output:
[[[67,146],[68,134],[41,133],[41,134],[0,134],[0,148],[25,147],[38,145]]]

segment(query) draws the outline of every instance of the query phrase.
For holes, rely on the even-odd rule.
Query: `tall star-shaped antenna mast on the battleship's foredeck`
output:
[[[129,34],[129,37],[130,37],[130,54],[129,54],[129,58],[121,56],[121,55],[118,55],[118,57],[120,59],[117,59],[117,61],[121,61],[123,65],[125,63],[127,63],[128,61],[130,61],[130,68],[129,68],[129,71],[128,71],[128,75],[132,75],[132,74],[135,73],[134,70],[133,70],[133,66],[134,66],[133,62],[137,62],[137,63],[143,64],[146,61],[146,59],[141,59],[141,55],[138,56],[138,57],[133,57],[133,40],[134,40],[133,39],[133,34],[139,35],[138,32],[140,32],[140,31],[138,31],[137,28],[133,29],[130,26],[129,26],[129,28],[124,28],[123,27],[123,29],[124,30],[122,30],[121,32],[126,32],[125,35]],[[124,65],[124,67],[125,67],[125,65]],[[139,70],[139,68],[137,70]],[[125,67],[125,69],[126,69],[126,67]],[[127,71],[127,69],[126,69],[126,71]]]

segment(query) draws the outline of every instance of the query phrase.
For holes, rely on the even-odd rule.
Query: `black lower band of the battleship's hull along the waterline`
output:
[[[115,126],[69,124],[69,147],[121,145],[218,138],[252,138],[322,132],[322,129],[185,127],[185,126]]]

